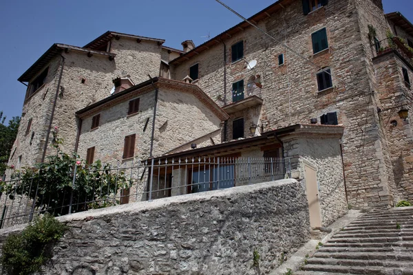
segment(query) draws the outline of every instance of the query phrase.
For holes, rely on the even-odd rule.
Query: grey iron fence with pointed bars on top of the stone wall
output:
[[[290,177],[290,159],[275,157],[187,157],[147,159],[114,168],[77,166],[55,186],[45,176],[17,174],[1,184],[0,228],[32,221],[36,214],[54,216],[115,206],[133,201],[162,199],[275,181]],[[39,176],[40,174],[40,176]]]

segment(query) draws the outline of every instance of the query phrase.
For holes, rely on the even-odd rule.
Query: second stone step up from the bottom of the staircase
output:
[[[381,266],[381,267],[410,267],[413,263],[410,261],[381,261],[381,260],[357,260],[357,259],[330,259],[330,258],[312,258],[307,260],[308,265],[341,265],[341,266]]]

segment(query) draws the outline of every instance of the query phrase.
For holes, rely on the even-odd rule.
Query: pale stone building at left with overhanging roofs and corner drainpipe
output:
[[[182,51],[162,39],[106,32],[84,47],[54,44],[20,78],[28,89],[21,126],[10,155],[17,168],[42,162],[50,153],[50,131],[59,126],[63,150],[74,151],[75,112],[107,98],[114,78],[142,83],[160,74],[160,64]]]

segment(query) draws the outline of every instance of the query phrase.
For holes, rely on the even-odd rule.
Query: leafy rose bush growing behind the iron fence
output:
[[[114,205],[118,190],[129,187],[124,171],[111,173],[109,164],[102,164],[100,160],[87,166],[85,161],[78,160],[78,155],[60,151],[62,140],[57,137],[56,128],[53,136],[56,155],[47,157],[47,162],[34,168],[15,171],[12,178],[16,180],[3,183],[3,192],[10,199],[16,199],[14,194],[29,197],[37,210],[54,216],[68,214],[71,199],[72,212]]]

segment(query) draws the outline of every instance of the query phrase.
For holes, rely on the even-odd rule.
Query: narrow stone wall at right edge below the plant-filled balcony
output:
[[[381,108],[380,123],[388,141],[397,188],[394,203],[403,199],[413,200],[412,96],[410,86],[404,81],[402,67],[408,70],[410,79],[413,79],[412,69],[396,52],[374,58],[378,88],[376,94]],[[407,120],[399,117],[401,107],[410,109]]]

